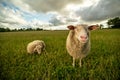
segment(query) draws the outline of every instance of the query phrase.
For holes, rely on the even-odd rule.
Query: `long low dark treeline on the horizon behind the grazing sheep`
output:
[[[36,28],[36,29],[33,29],[33,28],[21,28],[21,29],[10,29],[10,28],[0,28],[0,32],[17,32],[17,31],[42,31],[43,29],[42,28]]]

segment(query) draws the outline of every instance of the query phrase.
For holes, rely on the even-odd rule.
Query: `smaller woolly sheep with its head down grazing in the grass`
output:
[[[42,40],[34,40],[27,45],[27,52],[30,54],[41,54],[43,50],[45,50],[45,43]]]

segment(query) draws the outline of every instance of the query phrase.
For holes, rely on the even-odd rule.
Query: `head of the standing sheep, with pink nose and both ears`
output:
[[[89,31],[90,30],[95,30],[98,28],[98,25],[69,25],[68,26],[69,30],[74,31],[75,37],[82,43],[86,43],[89,40]]]

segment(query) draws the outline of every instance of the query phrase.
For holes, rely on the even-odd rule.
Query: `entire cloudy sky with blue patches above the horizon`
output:
[[[120,0],[0,0],[0,27],[65,29],[120,16]]]

